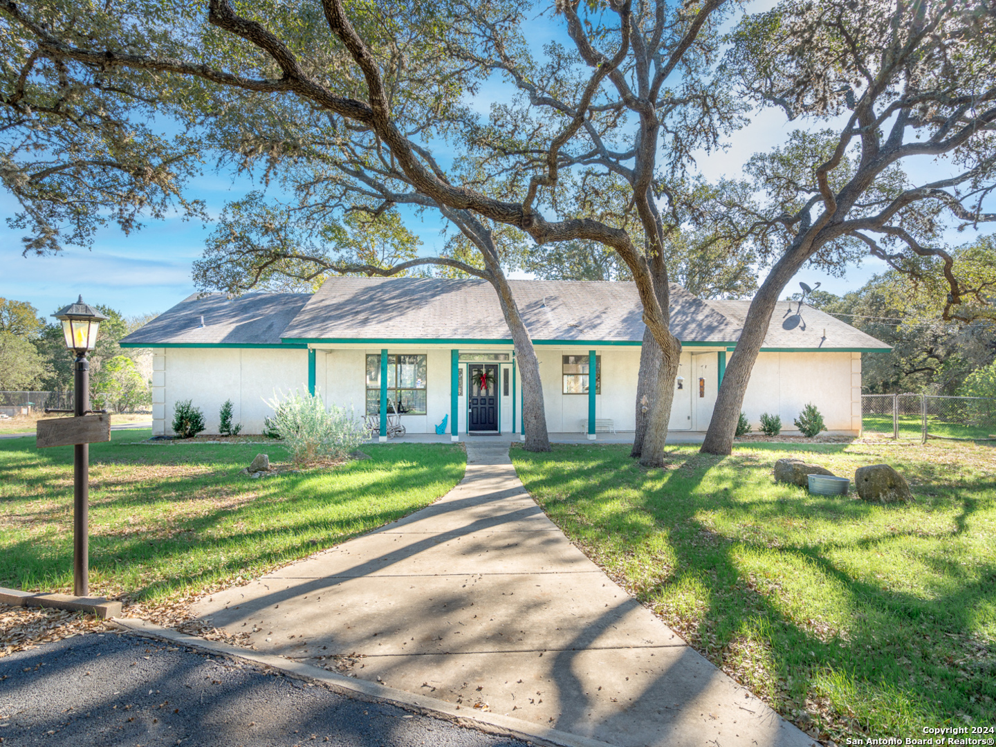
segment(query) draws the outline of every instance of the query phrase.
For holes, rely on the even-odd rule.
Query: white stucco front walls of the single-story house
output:
[[[612,418],[617,431],[635,427],[634,403],[639,368],[639,348],[595,348],[602,357],[602,393],[596,396],[596,416]],[[402,415],[411,433],[432,432],[433,426],[450,413],[450,348],[388,349],[390,354],[418,354],[427,357],[427,396],[425,415]],[[470,349],[461,349],[469,352]],[[487,349],[496,350],[494,347]],[[509,352],[511,349],[509,349]],[[547,427],[551,432],[582,432],[588,418],[588,396],[562,393],[562,356],[586,355],[587,348],[537,346],[543,379]],[[366,406],[366,356],[379,349],[319,349],[316,354],[316,383],[327,403],[355,407],[362,415]],[[718,388],[718,357],[715,351],[686,348],[681,355],[679,375],[684,386],[675,390],[670,426],[674,430],[704,430],[709,423]],[[466,365],[461,364],[461,369]],[[504,370],[498,371],[501,396],[501,429],[512,429],[512,393],[504,394]],[[699,378],[704,396],[699,396]],[[234,420],[243,432],[259,433],[263,418],[272,413],[264,402],[274,389],[284,392],[306,388],[308,352],[272,349],[153,349],[152,418],[154,434],[170,434],[173,407],[178,400],[191,399],[204,412],[207,433],[216,433],[218,410],[225,399],[234,404]],[[793,419],[807,402],[823,412],[833,431],[861,429],[862,364],[859,353],[761,353],[744,398],[743,409],[757,428],[761,412],[778,413],[785,431],[795,428]],[[522,379],[516,380],[515,421],[521,429]],[[466,382],[457,413],[459,431],[465,433]],[[447,432],[451,422],[447,423]]]

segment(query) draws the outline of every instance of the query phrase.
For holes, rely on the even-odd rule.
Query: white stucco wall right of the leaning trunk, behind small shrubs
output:
[[[794,433],[798,429],[793,420],[813,402],[828,430],[860,431],[861,363],[860,353],[761,353],[747,384],[743,411],[755,429],[761,413],[770,412],[782,418],[783,432]]]

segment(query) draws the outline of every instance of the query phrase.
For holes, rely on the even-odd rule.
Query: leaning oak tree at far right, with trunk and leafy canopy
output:
[[[985,3],[783,0],[744,19],[725,60],[745,96],[810,125],[755,156],[711,205],[771,269],[758,288],[702,444],[728,454],[775,306],[807,263],[871,253],[916,278],[939,261],[941,316],[962,317],[948,227],[996,220],[996,14]],[[815,127],[824,127],[816,131]],[[904,164],[936,158],[913,178]]]

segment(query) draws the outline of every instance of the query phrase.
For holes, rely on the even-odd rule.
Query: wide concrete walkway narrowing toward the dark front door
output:
[[[610,744],[813,744],[575,548],[508,443],[468,441],[436,503],[197,613],[260,651]]]

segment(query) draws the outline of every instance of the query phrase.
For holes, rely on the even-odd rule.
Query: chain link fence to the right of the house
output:
[[[862,431],[885,438],[996,441],[996,398],[862,394]]]

